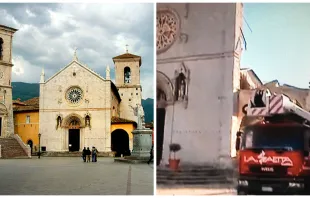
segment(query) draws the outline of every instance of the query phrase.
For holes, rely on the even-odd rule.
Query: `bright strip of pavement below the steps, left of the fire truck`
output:
[[[157,195],[237,195],[235,189],[229,188],[217,188],[210,186],[186,186],[186,187],[173,187],[173,188],[163,188],[157,187]]]

